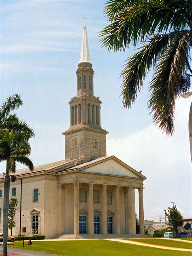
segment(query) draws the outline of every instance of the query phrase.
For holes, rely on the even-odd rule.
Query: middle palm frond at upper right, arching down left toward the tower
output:
[[[168,47],[173,38],[186,34],[188,30],[175,31],[169,34],[155,34],[149,38],[149,43],[140,47],[139,52],[128,58],[128,62],[121,74],[123,77],[122,95],[124,107],[130,107],[136,101],[137,93],[140,92],[143,81],[151,67],[154,66],[160,55]]]

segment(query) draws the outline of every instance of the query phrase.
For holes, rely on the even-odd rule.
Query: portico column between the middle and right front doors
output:
[[[102,234],[107,234],[107,185],[102,185]]]

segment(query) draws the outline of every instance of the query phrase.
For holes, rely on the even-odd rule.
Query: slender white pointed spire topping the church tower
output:
[[[84,17],[84,19],[86,19],[86,17]],[[80,62],[91,62],[88,39],[87,39],[87,27],[85,23],[83,26],[83,37],[81,41],[81,53],[80,53],[79,63]]]

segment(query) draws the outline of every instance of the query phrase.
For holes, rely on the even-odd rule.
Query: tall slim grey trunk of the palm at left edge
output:
[[[8,214],[9,214],[9,164],[6,163],[6,175],[4,181],[4,196],[3,196],[3,255],[7,255],[7,239],[8,239]]]

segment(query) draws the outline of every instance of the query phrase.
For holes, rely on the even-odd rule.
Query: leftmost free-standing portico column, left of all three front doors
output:
[[[79,235],[79,182],[74,182],[74,235]]]

